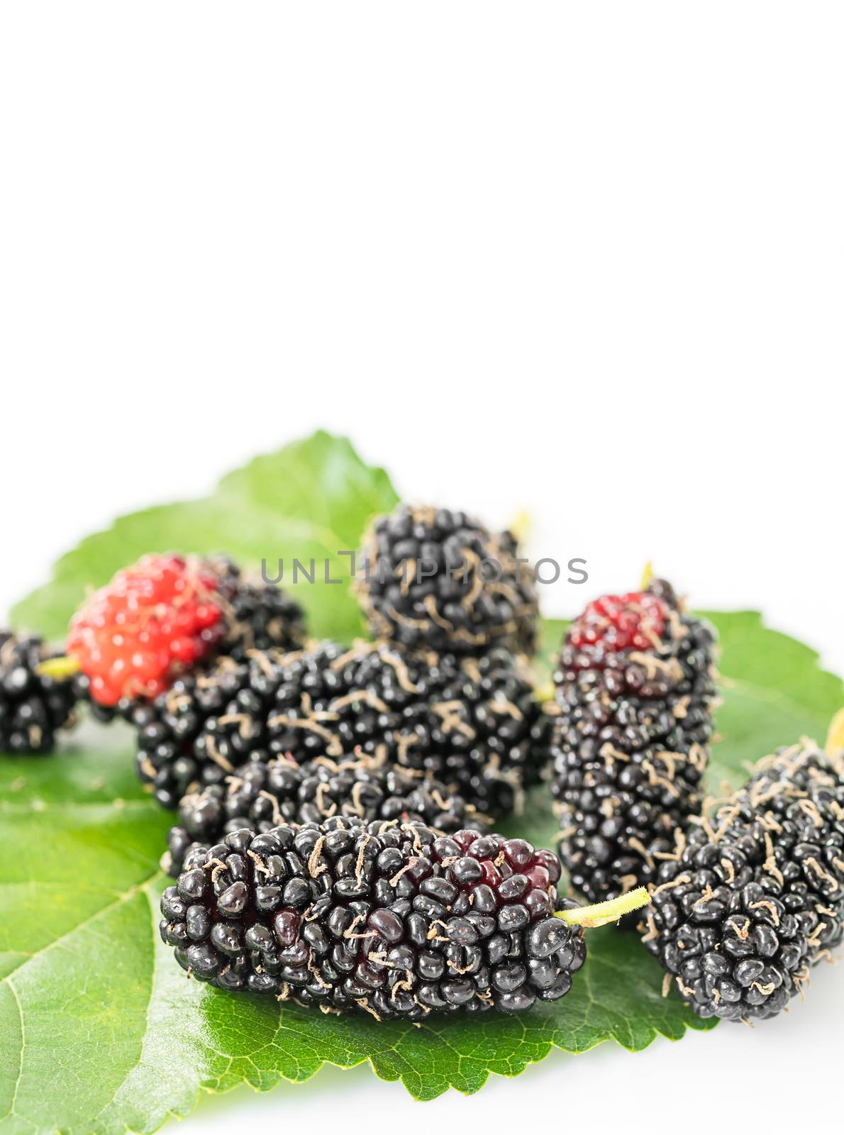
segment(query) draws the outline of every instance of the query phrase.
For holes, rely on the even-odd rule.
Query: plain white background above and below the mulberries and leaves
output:
[[[585,557],[549,613],[653,558],[844,671],[843,33],[770,0],[3,5],[0,607],[323,426]],[[324,1070],[180,1129],[805,1127],[843,1014],[822,967],[753,1031],[431,1104]]]

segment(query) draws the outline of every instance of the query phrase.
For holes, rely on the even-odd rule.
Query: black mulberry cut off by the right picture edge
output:
[[[844,756],[779,749],[661,860],[643,941],[701,1017],[773,1017],[844,938]]]

